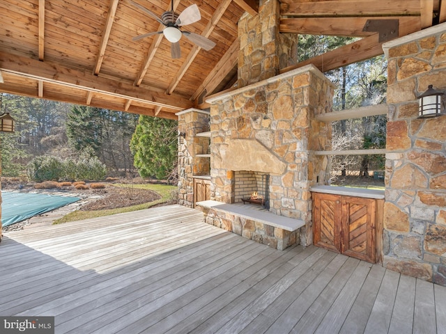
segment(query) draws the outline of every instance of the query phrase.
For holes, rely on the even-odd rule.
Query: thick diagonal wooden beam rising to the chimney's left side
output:
[[[226,75],[231,72],[233,67],[237,65],[238,51],[240,51],[240,42],[238,38],[236,38],[231,47],[229,47],[228,51],[226,51],[217,65],[215,65],[213,70],[208,74],[208,77],[206,77],[199,88],[195,90],[195,93],[192,95],[190,100],[195,100],[195,103],[198,104],[197,99],[204,90],[210,94],[215,90],[215,88],[217,88],[224,77],[226,77]]]

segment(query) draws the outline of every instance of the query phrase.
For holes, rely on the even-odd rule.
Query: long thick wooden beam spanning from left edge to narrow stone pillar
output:
[[[30,79],[90,90],[93,93],[121,97],[178,111],[193,106],[190,100],[183,97],[135,87],[132,84],[98,77],[82,70],[75,70],[48,61],[41,62],[3,51],[0,51],[0,70]]]

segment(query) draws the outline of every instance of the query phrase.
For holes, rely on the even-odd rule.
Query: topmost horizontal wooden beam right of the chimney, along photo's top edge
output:
[[[420,15],[420,1],[432,0],[331,0],[291,2],[280,5],[280,15],[296,17]]]

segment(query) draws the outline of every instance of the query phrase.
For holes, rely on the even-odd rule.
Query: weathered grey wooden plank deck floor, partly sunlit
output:
[[[446,287],[202,220],[171,205],[10,232],[0,315],[76,334],[446,333]]]

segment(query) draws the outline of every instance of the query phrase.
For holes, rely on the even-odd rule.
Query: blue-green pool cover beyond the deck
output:
[[[79,197],[47,195],[43,193],[15,193],[2,191],[1,224],[12,225],[19,221],[44,214],[80,200]]]

